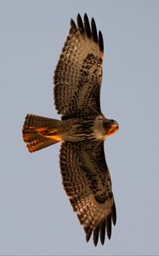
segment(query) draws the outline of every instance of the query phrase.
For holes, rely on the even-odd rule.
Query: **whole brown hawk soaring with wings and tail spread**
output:
[[[94,18],[77,24],[71,19],[60,60],[54,72],[54,104],[61,120],[27,114],[23,139],[29,152],[61,142],[60,172],[73,210],[83,225],[86,240],[93,234],[105,242],[116,224],[111,176],[105,160],[105,139],[118,130],[100,108],[104,43]]]

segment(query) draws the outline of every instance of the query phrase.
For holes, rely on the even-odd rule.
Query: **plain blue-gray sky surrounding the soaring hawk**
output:
[[[60,144],[29,154],[26,113],[59,118],[52,77],[71,17],[105,40],[101,106],[120,131],[105,143],[116,199],[111,241],[87,244],[62,187]],[[159,253],[159,1],[0,1],[0,254]]]

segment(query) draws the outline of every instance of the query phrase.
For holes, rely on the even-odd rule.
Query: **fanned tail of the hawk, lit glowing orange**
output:
[[[61,141],[61,121],[27,114],[23,125],[23,139],[29,152],[35,152]]]

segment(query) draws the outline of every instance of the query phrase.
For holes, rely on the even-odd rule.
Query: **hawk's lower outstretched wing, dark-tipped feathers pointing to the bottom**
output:
[[[111,177],[105,161],[104,143],[64,142],[60,148],[60,169],[66,194],[88,241],[94,233],[94,245],[105,242],[105,230],[111,238],[111,220],[116,224],[116,207]]]

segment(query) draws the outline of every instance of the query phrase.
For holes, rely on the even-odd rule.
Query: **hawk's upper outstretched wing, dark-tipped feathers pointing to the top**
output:
[[[77,15],[77,25],[71,20],[60,61],[54,72],[54,103],[63,118],[77,114],[100,112],[100,85],[104,44],[97,33],[94,18],[89,25]]]

